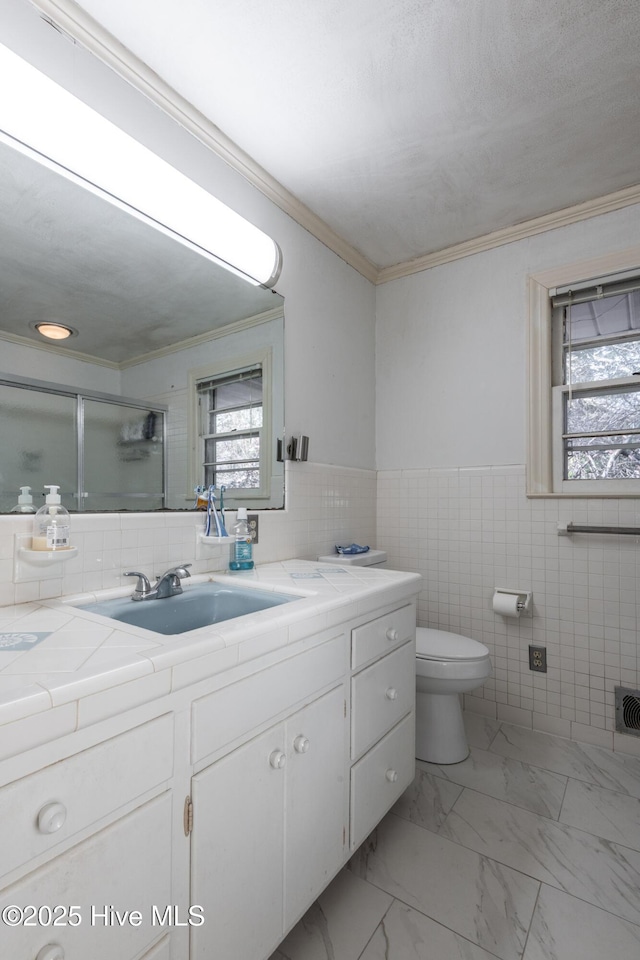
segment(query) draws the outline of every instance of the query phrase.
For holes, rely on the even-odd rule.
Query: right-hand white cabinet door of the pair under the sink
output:
[[[345,691],[287,720],[285,930],[342,865],[346,849]]]

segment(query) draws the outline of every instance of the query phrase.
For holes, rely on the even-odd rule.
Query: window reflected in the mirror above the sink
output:
[[[192,475],[225,500],[270,495],[270,354],[192,371]]]

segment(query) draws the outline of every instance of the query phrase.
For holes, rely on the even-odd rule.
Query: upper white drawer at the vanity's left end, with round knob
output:
[[[173,775],[166,714],[0,790],[2,875],[68,841]]]

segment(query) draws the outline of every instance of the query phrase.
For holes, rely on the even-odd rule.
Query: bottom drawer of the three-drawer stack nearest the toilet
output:
[[[362,843],[412,782],[415,733],[415,714],[410,713],[351,768],[352,850]]]

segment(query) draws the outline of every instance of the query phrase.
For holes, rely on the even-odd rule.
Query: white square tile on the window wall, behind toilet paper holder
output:
[[[527,499],[525,468],[378,474],[377,546],[425,585],[418,623],[485,643],[494,673],[474,709],[561,736],[613,746],[614,686],[639,686],[638,538],[559,537],[559,520],[640,526],[634,500]],[[496,586],[533,591],[533,617],[504,618]],[[529,670],[528,645],[548,672]],[[640,740],[616,736],[616,749]]]

